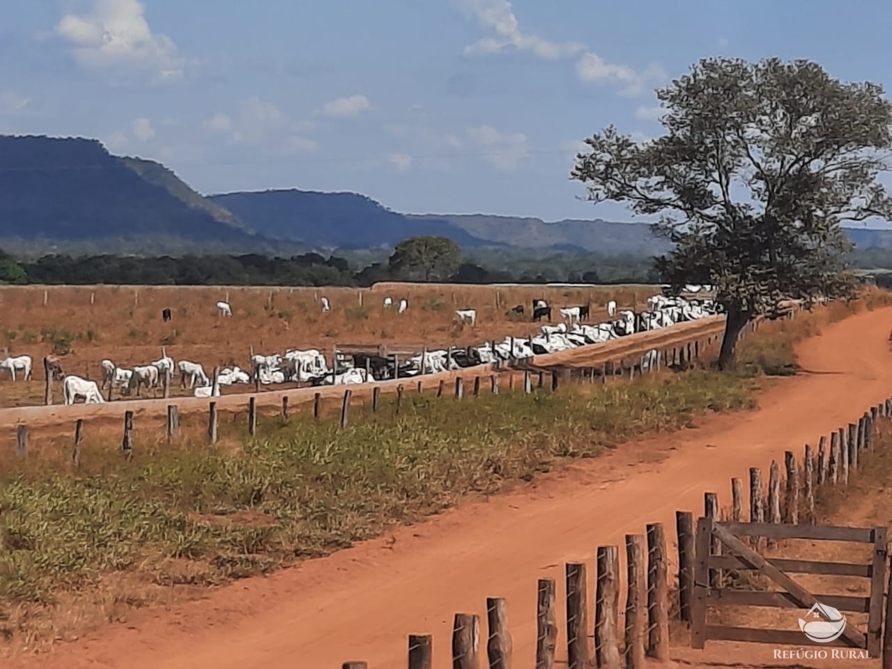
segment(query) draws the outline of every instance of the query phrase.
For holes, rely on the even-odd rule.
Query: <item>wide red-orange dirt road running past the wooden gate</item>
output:
[[[563,629],[566,561],[592,570],[599,545],[622,546],[625,533],[643,533],[647,523],[662,522],[673,537],[676,509],[699,511],[704,491],[727,501],[732,476],[746,480],[748,467],[767,469],[784,450],[801,452],[885,399],[890,323],[892,309],[883,309],[827,326],[799,351],[812,373],[773,384],[756,411],[629,444],[382,540],[237,582],[172,611],[145,612],[53,657],[7,666],[322,669],[362,659],[390,669],[406,665],[406,638],[416,632],[434,634],[434,666],[446,667],[452,615],[481,615],[485,634],[489,596],[508,600],[515,666],[531,667],[538,578],[558,582]],[[558,656],[565,653],[559,636]],[[816,666],[772,660],[772,648],[756,644],[710,642],[706,651],[680,649],[676,657],[691,667]]]

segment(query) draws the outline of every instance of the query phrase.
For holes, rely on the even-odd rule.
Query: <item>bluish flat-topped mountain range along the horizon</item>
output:
[[[860,249],[892,249],[892,230],[847,232]],[[11,252],[291,255],[388,248],[412,235],[604,256],[669,248],[645,223],[403,214],[362,194],[296,189],[202,196],[161,163],[112,155],[97,140],[0,136],[0,248]]]

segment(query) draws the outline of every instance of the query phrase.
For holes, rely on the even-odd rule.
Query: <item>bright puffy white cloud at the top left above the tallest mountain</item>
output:
[[[75,61],[85,68],[127,67],[157,79],[183,76],[186,60],[169,37],[153,33],[139,0],[95,0],[89,14],[66,14],[55,34],[70,42]]]

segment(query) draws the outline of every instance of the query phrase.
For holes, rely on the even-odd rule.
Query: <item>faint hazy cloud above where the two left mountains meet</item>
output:
[[[310,153],[316,142],[300,133],[310,129],[308,121],[289,119],[275,104],[251,97],[234,116],[218,112],[202,120],[201,128],[211,135],[226,136],[229,144],[259,146],[269,153]]]

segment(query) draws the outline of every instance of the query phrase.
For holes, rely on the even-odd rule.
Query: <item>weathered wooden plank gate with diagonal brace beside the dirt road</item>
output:
[[[871,657],[879,657],[886,578],[886,534],[885,527],[718,523],[710,517],[700,518],[694,551],[696,558],[694,598],[691,602],[691,648],[703,648],[707,640],[751,641],[779,645],[864,648]],[[765,558],[741,541],[740,537],[852,541],[872,544],[873,551],[871,560],[866,564]],[[721,569],[758,572],[780,586],[781,591],[733,590],[718,587],[720,584],[718,574]],[[871,593],[869,597],[814,595],[791,579],[788,573],[861,576],[870,579]],[[854,624],[846,624],[838,639],[828,643],[818,643],[810,640],[803,632],[706,624],[706,607],[724,605],[811,609],[818,603],[836,608],[844,614],[866,613],[867,629],[858,630]],[[817,610],[816,614],[822,612]],[[824,615],[821,617],[826,619]]]

